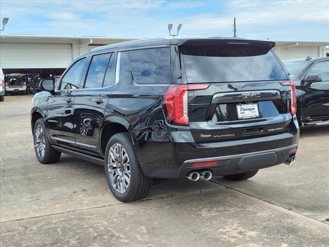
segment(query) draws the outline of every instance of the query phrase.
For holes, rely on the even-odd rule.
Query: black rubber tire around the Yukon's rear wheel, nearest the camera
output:
[[[129,172],[130,172],[130,181],[126,186],[126,190],[124,192],[119,192],[112,184],[112,180],[118,181],[119,177],[112,178],[112,175],[117,175],[118,172],[110,173],[108,171],[108,163],[109,163],[109,151],[111,147],[115,147],[115,145],[121,145],[129,157]],[[120,152],[121,153],[121,152]],[[123,163],[122,159],[122,163]],[[118,133],[115,134],[109,139],[106,151],[105,151],[105,159],[104,159],[104,166],[105,166],[105,177],[107,181],[107,185],[113,196],[122,202],[132,202],[136,200],[140,200],[144,198],[147,193],[150,191],[153,179],[145,177],[143,171],[140,168],[140,165],[137,160],[135,148],[133,142],[131,140],[130,134],[125,133]],[[121,179],[121,178],[120,178]],[[119,179],[119,180],[120,180]]]

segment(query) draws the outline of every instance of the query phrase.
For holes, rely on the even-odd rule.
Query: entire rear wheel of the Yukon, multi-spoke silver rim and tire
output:
[[[109,139],[105,152],[105,176],[114,197],[122,202],[144,198],[153,179],[141,170],[129,133],[118,133]]]

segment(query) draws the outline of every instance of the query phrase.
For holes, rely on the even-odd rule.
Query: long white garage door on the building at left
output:
[[[0,43],[1,68],[66,68],[71,44]]]

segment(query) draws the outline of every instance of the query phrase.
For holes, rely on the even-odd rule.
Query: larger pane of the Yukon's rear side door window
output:
[[[95,55],[90,63],[85,82],[85,89],[102,87],[105,70],[111,53]]]

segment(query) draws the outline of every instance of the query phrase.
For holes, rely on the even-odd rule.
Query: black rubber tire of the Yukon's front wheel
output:
[[[38,148],[36,147],[36,129],[39,128],[39,126],[42,128],[43,132],[44,132],[44,144],[45,144],[45,150],[44,150],[44,154],[40,155],[38,152]],[[45,122],[42,118],[39,118],[38,120],[36,120],[35,125],[34,125],[34,129],[33,129],[33,144],[34,144],[34,151],[35,151],[35,155],[36,158],[38,158],[38,161],[42,164],[49,164],[49,163],[55,163],[58,162],[60,157],[61,157],[61,152],[54,150],[51,147],[51,144],[49,142],[49,139],[47,137],[47,129],[45,126]]]

